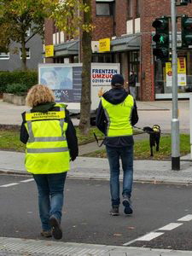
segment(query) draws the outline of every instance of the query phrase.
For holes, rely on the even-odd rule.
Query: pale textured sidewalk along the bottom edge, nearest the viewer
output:
[[[0,256],[191,256],[189,251],[0,237]]]

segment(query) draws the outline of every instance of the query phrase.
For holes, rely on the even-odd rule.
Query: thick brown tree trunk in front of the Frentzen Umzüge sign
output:
[[[90,11],[84,13],[84,24],[92,24],[91,20],[91,0],[84,0]],[[83,32],[82,34],[82,90],[80,102],[80,122],[79,129],[83,134],[90,131],[90,66],[91,66],[91,39],[92,32]]]

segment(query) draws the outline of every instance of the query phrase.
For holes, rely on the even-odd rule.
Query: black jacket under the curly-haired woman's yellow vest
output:
[[[39,104],[38,106],[32,108],[31,112],[48,112],[48,111],[59,111],[59,107],[54,107],[55,102],[46,102]],[[20,141],[24,144],[27,143],[29,135],[26,131],[26,126],[24,125],[26,123],[25,120],[25,113],[22,113],[23,122],[20,127]],[[73,123],[69,117],[69,112],[66,109],[66,118],[65,122],[67,122],[67,131],[66,131],[66,138],[67,138],[67,144],[69,148],[69,154],[71,157],[71,160],[75,160],[76,157],[79,154],[79,148],[78,148],[78,139],[76,137],[76,131],[74,129]]]

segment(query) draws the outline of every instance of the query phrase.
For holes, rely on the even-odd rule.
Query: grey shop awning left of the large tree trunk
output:
[[[78,55],[79,54],[79,40],[69,41],[63,44],[56,44],[54,46],[55,57]]]

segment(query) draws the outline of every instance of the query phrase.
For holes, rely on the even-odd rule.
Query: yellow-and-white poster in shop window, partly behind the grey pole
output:
[[[186,59],[177,58],[177,84],[178,86],[187,85]],[[166,62],[166,86],[172,86],[172,63]]]

